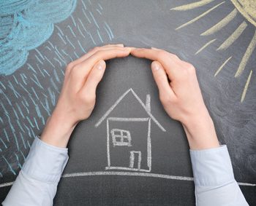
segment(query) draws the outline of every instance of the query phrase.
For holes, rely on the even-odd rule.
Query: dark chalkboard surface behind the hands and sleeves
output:
[[[124,43],[166,49],[195,66],[236,180],[256,205],[256,6],[241,2],[66,1],[75,11],[65,6],[69,15],[53,22],[48,39],[23,45],[23,63],[1,59],[0,201],[56,104],[67,63],[95,46]],[[54,205],[195,205],[187,138],[159,102],[150,63],[107,62],[94,112],[69,141]],[[112,141],[121,134],[132,146]]]

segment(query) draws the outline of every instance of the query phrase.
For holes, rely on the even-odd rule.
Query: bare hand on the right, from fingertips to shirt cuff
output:
[[[195,67],[162,49],[133,48],[131,54],[153,60],[151,68],[159,88],[159,99],[167,114],[183,125],[190,148],[219,146],[214,123],[203,102]]]

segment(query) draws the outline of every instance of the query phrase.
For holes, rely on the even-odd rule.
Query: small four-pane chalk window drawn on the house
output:
[[[131,145],[131,134],[128,130],[111,130],[113,146],[132,146]]]

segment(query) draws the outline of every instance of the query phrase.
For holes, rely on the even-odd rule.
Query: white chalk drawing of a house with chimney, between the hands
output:
[[[131,113],[127,112],[126,108],[129,115],[122,114],[120,116],[118,113],[115,116],[110,115],[113,114],[118,104],[124,101],[128,94],[130,94],[129,97],[133,101],[138,101],[137,105],[143,110],[145,116],[131,117],[132,111],[134,114],[139,108],[130,108]],[[116,103],[95,124],[95,127],[99,127],[105,120],[107,124],[108,166],[105,167],[105,170],[151,172],[151,122],[157,124],[163,132],[165,132],[165,128],[151,114],[150,101],[150,95],[146,95],[146,103],[144,104],[130,88],[116,100]],[[128,102],[128,105],[130,103],[131,101]],[[127,107],[129,108],[129,106]]]

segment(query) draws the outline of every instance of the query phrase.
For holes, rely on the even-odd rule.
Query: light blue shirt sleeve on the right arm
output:
[[[248,205],[233,175],[227,146],[190,150],[198,206]]]

